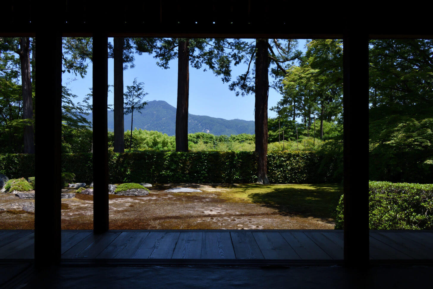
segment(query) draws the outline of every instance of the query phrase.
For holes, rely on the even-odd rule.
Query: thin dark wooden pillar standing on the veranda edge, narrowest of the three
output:
[[[108,38],[107,34],[93,34],[93,230],[108,230]]]

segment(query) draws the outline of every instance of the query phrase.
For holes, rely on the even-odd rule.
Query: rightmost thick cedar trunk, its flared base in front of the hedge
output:
[[[269,184],[268,163],[268,39],[257,39],[255,59],[255,151],[257,162],[257,183]]]

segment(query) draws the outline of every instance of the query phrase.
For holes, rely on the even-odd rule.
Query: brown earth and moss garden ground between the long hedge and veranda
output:
[[[172,187],[203,192],[164,191]],[[145,197],[110,195],[110,229],[333,229],[332,211],[342,194],[331,184],[154,184],[150,189]],[[0,194],[0,208],[23,202],[34,200]],[[93,228],[93,196],[76,194],[61,203],[62,229]],[[34,213],[0,211],[0,229],[32,229],[33,223]]]

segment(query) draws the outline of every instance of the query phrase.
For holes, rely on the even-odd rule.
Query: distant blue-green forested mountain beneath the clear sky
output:
[[[161,131],[174,135],[176,129],[176,108],[163,100],[147,102],[141,114],[134,112],[132,129],[141,128],[148,131]],[[92,120],[92,114],[86,116]],[[131,115],[124,117],[125,131],[131,129]],[[108,111],[108,130],[114,129],[113,111]],[[242,119],[213,118],[207,115],[188,114],[188,133],[207,132],[213,135],[254,134],[254,121]]]

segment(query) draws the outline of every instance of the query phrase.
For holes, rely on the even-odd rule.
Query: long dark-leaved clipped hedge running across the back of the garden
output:
[[[34,176],[34,155],[0,155],[0,173],[8,177]],[[319,170],[323,156],[315,152],[269,152],[268,179],[274,184],[341,182],[333,164]],[[5,165],[6,164],[6,165]],[[110,183],[252,183],[257,155],[253,151],[109,152]],[[323,164],[322,164],[323,166]],[[62,154],[61,169],[75,180],[93,181],[92,154]],[[325,173],[323,173],[325,172]]]

